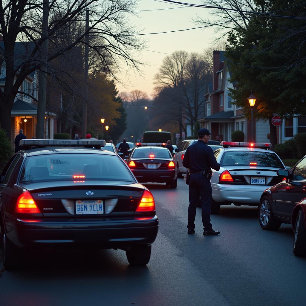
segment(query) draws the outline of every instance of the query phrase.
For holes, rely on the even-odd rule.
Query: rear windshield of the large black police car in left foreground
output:
[[[134,182],[132,175],[119,156],[102,154],[46,154],[30,156],[26,159],[21,172],[20,183],[58,180]]]

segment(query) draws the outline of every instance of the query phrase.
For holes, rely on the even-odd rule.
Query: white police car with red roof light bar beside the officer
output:
[[[220,205],[258,206],[265,189],[282,181],[277,170],[286,169],[271,144],[221,142],[214,151],[220,164],[211,177],[211,213],[218,214]]]

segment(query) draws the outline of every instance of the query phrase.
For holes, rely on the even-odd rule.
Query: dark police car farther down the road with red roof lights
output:
[[[166,143],[136,143],[126,160],[139,182],[166,183],[177,187],[177,166]]]

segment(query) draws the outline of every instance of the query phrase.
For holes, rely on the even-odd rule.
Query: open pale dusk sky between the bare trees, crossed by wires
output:
[[[201,1],[194,0],[188,3],[201,4]],[[155,11],[154,9],[164,10]],[[143,29],[141,33],[195,28],[200,25],[192,22],[192,18],[196,19],[197,15],[199,17],[207,17],[209,14],[206,8],[181,7],[157,0],[141,0],[136,10],[140,11],[138,12],[139,17],[131,17],[130,21],[138,26],[139,29]],[[148,40],[146,50],[142,50],[140,55],[140,58],[142,57],[141,60],[148,63],[140,67],[143,70],[143,76],[135,76],[134,73],[130,73],[129,79],[127,77],[123,78],[125,73],[122,71],[121,76],[126,85],[123,87],[117,84],[117,88],[119,92],[136,89],[145,91],[151,97],[154,91],[154,75],[158,72],[162,59],[167,55],[152,51],[172,54],[178,50],[185,50],[187,52],[200,53],[204,48],[213,44],[211,39],[214,37],[214,30],[212,28],[194,29],[141,37]]]

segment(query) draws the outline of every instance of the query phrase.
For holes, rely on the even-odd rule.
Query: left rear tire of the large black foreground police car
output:
[[[13,243],[3,234],[2,237],[2,260],[6,270],[16,270],[22,265],[20,252],[21,249],[15,247]]]

